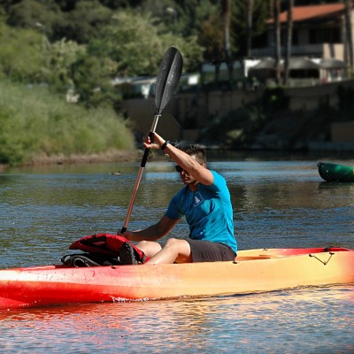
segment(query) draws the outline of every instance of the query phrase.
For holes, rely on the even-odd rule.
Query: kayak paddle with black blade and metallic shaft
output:
[[[159,67],[158,78],[155,84],[156,112],[149,133],[151,142],[153,141],[154,133],[156,127],[158,126],[158,119],[161,116],[161,113],[164,110],[165,105],[173,96],[173,92],[176,89],[178,82],[180,81],[182,67],[183,67],[183,59],[180,51],[175,49],[174,47],[170,47],[168,50],[166,50],[164,58],[162,59],[162,62]],[[145,148],[144,154],[142,156],[142,163],[140,164],[139,173],[135,181],[135,188],[133,190],[133,195],[132,198],[130,199],[130,204],[127,210],[127,216],[124,221],[124,226],[120,230],[121,234],[127,231],[127,224],[129,222],[130,214],[133,210],[135,196],[138,191],[140,181],[142,180],[142,173],[145,168],[146,162],[149,158],[149,154],[150,154],[150,149]]]

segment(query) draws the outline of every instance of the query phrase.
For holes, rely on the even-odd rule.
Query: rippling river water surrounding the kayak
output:
[[[354,183],[322,181],[324,158],[211,156],[227,179],[239,248],[354,248]],[[354,160],[336,159],[354,165]],[[60,263],[83,235],[124,223],[139,162],[0,174],[0,268]],[[120,171],[120,174],[112,174]],[[146,227],[181,188],[149,162],[129,228]],[[188,235],[181,222],[173,236]],[[242,296],[0,311],[3,353],[352,353],[354,285]]]

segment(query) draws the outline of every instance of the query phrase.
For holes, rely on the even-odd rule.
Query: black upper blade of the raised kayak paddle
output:
[[[158,78],[155,85],[155,104],[157,114],[161,114],[165,105],[173,96],[181,78],[183,59],[179,50],[170,47],[166,50],[160,64]]]

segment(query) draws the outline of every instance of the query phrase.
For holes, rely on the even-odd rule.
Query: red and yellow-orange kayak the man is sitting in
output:
[[[158,300],[354,283],[354,250],[241,250],[232,262],[0,270],[0,309]]]

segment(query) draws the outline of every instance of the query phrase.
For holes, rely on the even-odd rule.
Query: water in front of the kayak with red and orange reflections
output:
[[[6,339],[3,348],[9,352],[32,346],[35,352],[43,353],[58,348],[81,353],[349,353],[354,350],[349,326],[353,308],[354,287],[340,286],[85,304],[2,314],[0,341]],[[21,340],[13,339],[14,330]]]

